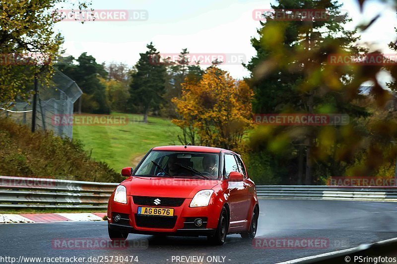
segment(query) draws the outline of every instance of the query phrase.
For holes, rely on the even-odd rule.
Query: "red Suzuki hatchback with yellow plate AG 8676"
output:
[[[151,149],[108,204],[109,237],[129,233],[207,236],[223,244],[227,234],[252,239],[259,204],[240,155],[225,149],[167,146]]]

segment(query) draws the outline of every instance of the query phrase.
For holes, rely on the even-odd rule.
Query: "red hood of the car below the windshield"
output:
[[[198,191],[218,184],[218,180],[133,176],[121,183],[126,186],[127,195],[174,198],[193,198]]]

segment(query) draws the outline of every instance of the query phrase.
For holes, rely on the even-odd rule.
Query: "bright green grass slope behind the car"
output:
[[[148,123],[141,122],[143,116],[127,115],[127,125],[73,126],[73,139],[81,140],[85,150],[92,150],[92,158],[105,161],[116,171],[126,166],[135,166],[140,157],[152,147],[178,144],[181,129],[169,119],[148,117]]]

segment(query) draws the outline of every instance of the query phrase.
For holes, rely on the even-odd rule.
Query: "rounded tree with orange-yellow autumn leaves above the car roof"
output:
[[[198,83],[182,84],[182,97],[172,99],[181,117],[172,122],[194,130],[200,145],[241,151],[244,133],[253,124],[252,98],[245,81],[211,66]]]

